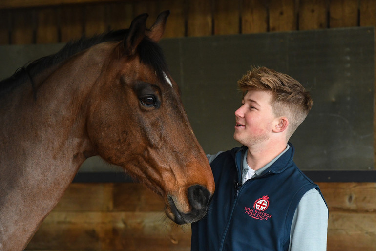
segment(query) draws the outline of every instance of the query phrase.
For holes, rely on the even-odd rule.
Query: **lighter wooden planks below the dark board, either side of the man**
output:
[[[328,251],[376,250],[376,183],[318,183],[329,207]],[[137,183],[73,183],[27,250],[189,251],[190,226]]]

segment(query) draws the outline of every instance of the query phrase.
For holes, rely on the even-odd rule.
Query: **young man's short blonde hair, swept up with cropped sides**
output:
[[[276,117],[289,120],[287,139],[307,117],[313,101],[310,93],[289,75],[266,67],[252,67],[238,81],[243,96],[249,90],[262,90],[272,93],[271,106]]]

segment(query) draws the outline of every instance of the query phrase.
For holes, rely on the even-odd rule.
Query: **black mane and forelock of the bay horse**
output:
[[[12,90],[15,86],[24,83],[28,79],[32,81],[33,76],[41,73],[43,70],[61,63],[76,53],[88,49],[91,46],[102,42],[120,42],[124,39],[127,32],[128,29],[109,31],[91,38],[83,37],[79,40],[68,42],[56,54],[45,56],[31,63],[27,63],[23,67],[17,69],[9,78],[1,80],[0,94]],[[145,37],[137,47],[137,50],[141,61],[155,69],[160,80],[166,82],[163,77],[163,72],[167,73],[168,70],[161,47]]]

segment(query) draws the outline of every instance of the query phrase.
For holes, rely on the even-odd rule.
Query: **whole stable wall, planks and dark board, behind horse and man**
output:
[[[65,42],[169,9],[163,48],[206,153],[232,138],[251,65],[291,75],[314,105],[291,139],[329,207],[328,250],[376,250],[374,0],[1,0],[0,80]],[[27,250],[190,250],[190,226],[119,167],[89,158]]]

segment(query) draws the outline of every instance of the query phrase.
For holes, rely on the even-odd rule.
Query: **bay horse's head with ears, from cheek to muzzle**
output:
[[[159,194],[167,216],[184,224],[205,215],[214,180],[156,43],[168,14],[150,29],[146,14],[132,21],[94,84],[86,123],[95,154]]]

